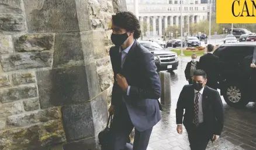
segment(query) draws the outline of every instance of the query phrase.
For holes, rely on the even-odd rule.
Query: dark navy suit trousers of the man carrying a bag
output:
[[[115,108],[115,115],[111,126],[111,150],[125,149],[126,142],[134,126],[126,108],[126,103]],[[145,131],[138,131],[135,128],[133,150],[146,150],[153,127]]]

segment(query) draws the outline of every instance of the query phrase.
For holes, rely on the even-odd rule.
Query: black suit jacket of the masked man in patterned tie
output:
[[[177,102],[176,122],[177,124],[183,123],[186,128],[190,128],[194,118],[194,95],[193,85],[185,85]],[[206,124],[207,128],[205,134],[209,139],[212,139],[213,134],[220,135],[222,133],[224,110],[219,92],[207,87],[207,85],[203,90],[202,108],[203,123]]]

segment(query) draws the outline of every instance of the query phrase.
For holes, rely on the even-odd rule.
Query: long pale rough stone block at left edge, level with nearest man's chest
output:
[[[26,52],[2,55],[0,61],[4,72],[10,72],[19,69],[50,67],[52,57],[50,52]]]

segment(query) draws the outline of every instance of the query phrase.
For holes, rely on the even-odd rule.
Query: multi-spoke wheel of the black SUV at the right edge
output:
[[[237,85],[229,85],[223,92],[226,103],[234,108],[243,108],[249,102],[245,98],[243,90]]]

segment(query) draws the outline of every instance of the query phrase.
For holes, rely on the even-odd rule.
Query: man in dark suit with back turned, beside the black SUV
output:
[[[217,90],[220,79],[219,57],[212,54],[214,46],[207,45],[207,53],[200,57],[198,69],[202,69],[207,74],[207,86]]]

